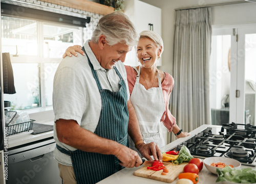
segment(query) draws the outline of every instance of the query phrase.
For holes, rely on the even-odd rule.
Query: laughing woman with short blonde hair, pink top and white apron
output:
[[[83,54],[81,47],[75,45],[67,49],[63,57]],[[163,52],[163,40],[153,31],[142,31],[136,46],[140,65],[125,66],[130,90],[130,100],[134,106],[139,121],[143,141],[133,143],[130,139],[130,148],[139,149],[143,143],[155,142],[163,147],[164,139],[161,122],[169,132],[176,137],[189,135],[183,132],[175,117],[169,111],[169,98],[174,86],[174,79],[170,74],[157,69],[158,59]]]

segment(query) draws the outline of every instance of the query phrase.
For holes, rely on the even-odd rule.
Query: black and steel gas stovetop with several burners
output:
[[[205,128],[195,136],[179,144],[185,145],[191,155],[198,158],[224,156],[238,160],[242,165],[256,166],[256,126],[250,124],[223,124]]]

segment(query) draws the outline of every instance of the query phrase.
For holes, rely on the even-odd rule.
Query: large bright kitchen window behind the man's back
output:
[[[52,105],[53,77],[65,50],[83,44],[83,28],[2,16],[2,52],[10,53],[13,109]]]

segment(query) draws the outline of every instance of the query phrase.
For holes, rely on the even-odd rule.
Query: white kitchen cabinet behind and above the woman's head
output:
[[[161,9],[139,0],[124,1],[124,14],[126,14],[135,25],[136,31],[155,31],[161,36]],[[138,65],[138,59],[133,49],[127,56],[129,65]],[[131,58],[130,58],[131,57]],[[135,58],[135,59],[134,59]],[[158,66],[161,65],[161,58]]]

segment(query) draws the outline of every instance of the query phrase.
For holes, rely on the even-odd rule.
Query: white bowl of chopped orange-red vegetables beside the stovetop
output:
[[[204,159],[204,166],[211,173],[217,174],[217,168],[223,169],[225,166],[240,168],[241,163],[232,158],[213,156]]]

